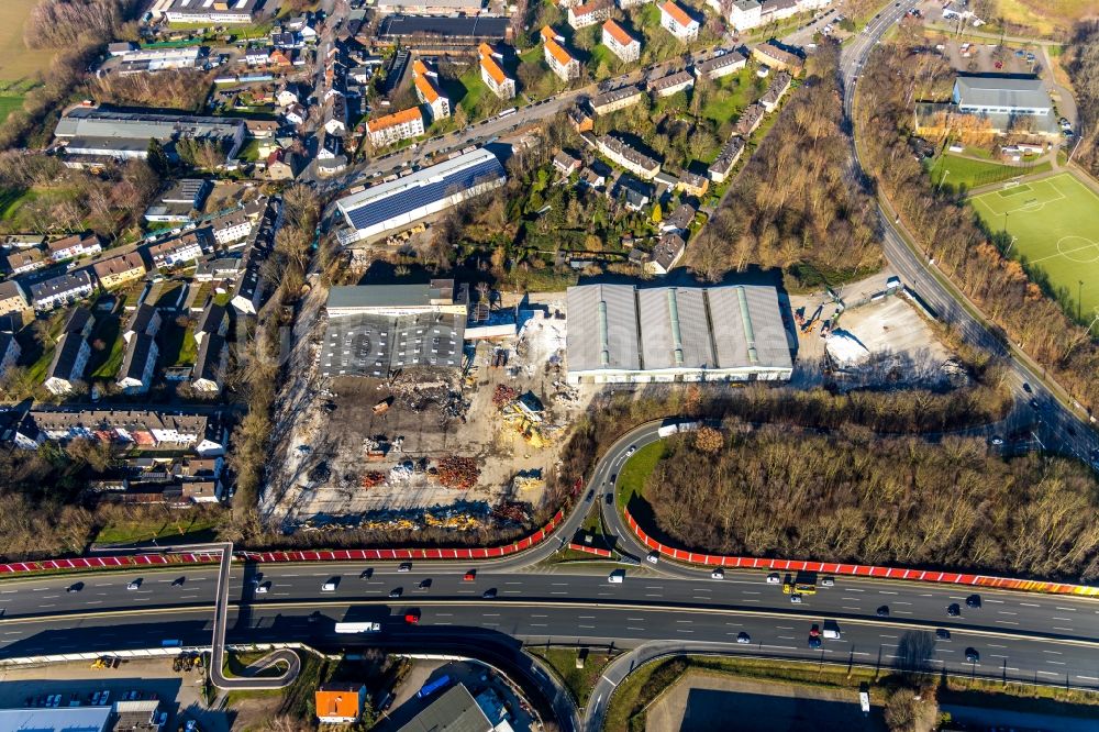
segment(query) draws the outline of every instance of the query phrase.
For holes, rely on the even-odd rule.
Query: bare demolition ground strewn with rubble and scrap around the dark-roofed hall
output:
[[[591,393],[565,385],[558,295],[517,337],[466,344],[463,369],[318,374],[326,288],[295,325],[262,510],[284,531],[475,531],[530,519]],[[493,365],[495,364],[495,365]]]

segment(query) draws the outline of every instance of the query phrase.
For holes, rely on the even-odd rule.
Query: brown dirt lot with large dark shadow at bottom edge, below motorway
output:
[[[647,732],[885,730],[881,708],[864,716],[858,692],[689,673],[653,707]]]

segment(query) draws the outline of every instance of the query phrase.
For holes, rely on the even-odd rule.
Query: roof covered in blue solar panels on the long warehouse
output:
[[[369,229],[442,201],[456,191],[506,176],[500,160],[480,148],[423,168],[410,176],[374,186],[336,202],[353,229]]]

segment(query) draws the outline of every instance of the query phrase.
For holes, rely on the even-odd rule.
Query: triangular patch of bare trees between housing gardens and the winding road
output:
[[[804,82],[687,248],[702,276],[800,264],[836,282],[880,267],[874,208],[848,177],[839,64],[836,43],[810,56]]]

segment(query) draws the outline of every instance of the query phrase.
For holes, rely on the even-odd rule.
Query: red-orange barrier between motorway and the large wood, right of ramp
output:
[[[867,567],[861,564],[836,564],[834,562],[806,562],[802,559],[768,559],[751,556],[721,556],[700,554],[666,546],[645,533],[630,511],[625,510],[625,521],[642,544],[656,550],[664,556],[707,566],[737,567],[748,569],[767,569],[781,572],[815,572],[823,575],[851,575],[855,577],[881,577],[882,579],[908,579],[923,583],[945,583],[950,585],[973,585],[977,587],[998,587],[1001,589],[1026,590],[1030,592],[1046,592],[1050,595],[1083,595],[1099,597],[1099,587],[1087,585],[1068,585],[1064,583],[1046,583],[1033,579],[1012,579],[1009,577],[989,577],[986,575],[966,575],[955,572],[935,572],[925,569],[899,569],[897,567]]]

